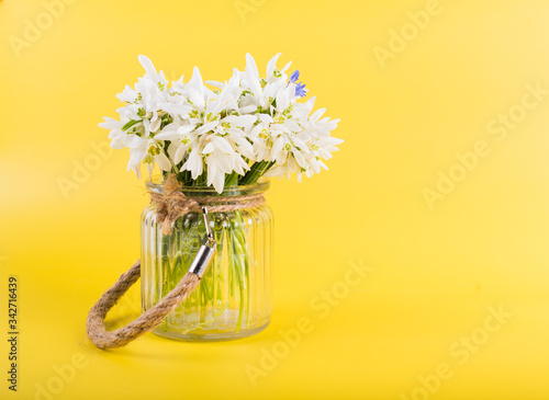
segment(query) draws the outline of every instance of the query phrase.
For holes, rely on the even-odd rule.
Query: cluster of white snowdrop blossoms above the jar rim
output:
[[[116,95],[125,103],[120,121],[105,117],[99,126],[111,129],[113,148],[130,148],[128,170],[137,175],[142,163],[149,174],[158,165],[186,185],[213,185],[219,193],[261,175],[312,176],[327,170],[323,159],[343,141],[330,136],[339,119],[322,117],[324,108],[312,113],[315,98],[298,102],[307,89],[298,82],[299,71],[285,73],[291,62],[277,68],[279,57],[260,78],[247,54],[244,71],[208,81],[210,89],[197,67],[187,83],[181,77],[170,84],[139,56],[146,73]]]

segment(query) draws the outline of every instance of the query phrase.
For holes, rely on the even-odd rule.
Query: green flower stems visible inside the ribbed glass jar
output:
[[[188,333],[197,329],[208,329],[208,327],[215,324],[215,320],[220,317],[223,318],[226,308],[237,298],[239,304],[237,306],[235,333],[243,329],[244,320],[246,321],[245,327],[249,328],[250,260],[244,217],[239,210],[235,210],[221,214],[214,218],[214,235],[217,241],[216,264],[219,267],[211,267],[204,275],[197,292],[192,293],[177,308],[180,312],[181,322],[176,322],[176,324],[184,325],[187,328],[184,331]],[[160,247],[163,297],[177,286],[189,268],[200,248],[200,238],[204,235],[205,227],[202,218],[198,218],[193,214],[188,214],[176,221],[171,235],[163,235]],[[222,267],[224,247],[228,252],[226,270]],[[227,276],[223,276],[225,272]],[[226,282],[228,292],[223,290],[223,282]],[[228,296],[228,298],[225,298],[225,296]],[[216,308],[219,308],[217,311]],[[194,315],[195,318],[190,322],[184,321],[186,315]],[[224,318],[226,323],[226,313]],[[233,324],[234,322],[229,323]],[[168,330],[169,328],[170,323],[166,319],[164,329]]]

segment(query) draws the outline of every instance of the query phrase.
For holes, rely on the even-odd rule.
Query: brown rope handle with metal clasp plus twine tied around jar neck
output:
[[[201,209],[201,204],[209,206],[211,212],[231,212],[235,209],[251,208],[265,204],[261,194],[245,196],[211,196],[188,197],[181,192],[181,184],[175,175],[169,175],[161,194],[150,193],[150,201],[157,208],[157,220],[161,221],[164,235],[170,235],[171,224],[181,215]],[[219,204],[229,202],[229,204]],[[217,203],[217,205],[215,205]],[[208,226],[206,226],[208,230]],[[211,239],[211,237],[210,237]],[[214,242],[215,243],[215,242]],[[204,245],[203,245],[204,247]],[[215,244],[213,247],[215,249]],[[213,254],[212,250],[212,254]],[[203,255],[203,254],[202,254]],[[201,258],[197,254],[194,261]],[[171,311],[173,311],[194,290],[202,278],[202,273],[194,270],[194,262],[189,272],[184,274],[177,286],[168,293],[158,304],[143,312],[137,319],[115,331],[107,331],[104,318],[109,310],[141,277],[141,260],[122,274],[116,283],[96,302],[88,313],[86,331],[91,342],[99,348],[122,347],[142,334],[157,327]]]

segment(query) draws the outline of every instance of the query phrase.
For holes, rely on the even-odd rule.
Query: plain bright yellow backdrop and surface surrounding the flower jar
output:
[[[16,275],[21,331],[16,393],[1,335],[2,399],[549,398],[549,2],[45,10],[0,2],[0,327]],[[293,60],[346,140],[329,172],[272,182],[272,323],[235,342],[147,334],[98,351],[87,311],[138,256],[147,196],[125,150],[91,156],[107,142],[97,124],[143,73],[138,54],[171,79],[194,65],[225,79],[247,52],[261,70],[278,52]],[[64,196],[75,162],[93,170]]]

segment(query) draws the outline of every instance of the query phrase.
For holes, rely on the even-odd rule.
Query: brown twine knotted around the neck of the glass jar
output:
[[[225,213],[265,204],[262,193],[239,196],[187,196],[175,174],[168,175],[163,187],[161,193],[149,191],[149,194],[150,203],[156,206],[158,220],[163,224],[164,235],[170,233],[171,224],[181,215],[200,213],[202,206],[208,206],[210,213]]]

